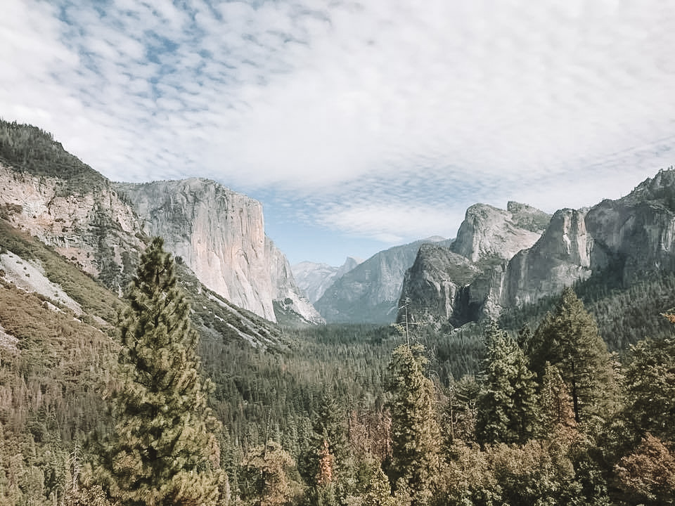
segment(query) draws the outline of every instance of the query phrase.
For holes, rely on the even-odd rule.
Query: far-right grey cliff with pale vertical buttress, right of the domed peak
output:
[[[556,212],[536,245],[508,264],[503,304],[535,302],[607,269],[626,285],[675,271],[675,171],[660,171],[619,200]]]

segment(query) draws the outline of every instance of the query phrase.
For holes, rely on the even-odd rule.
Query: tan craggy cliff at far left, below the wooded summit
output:
[[[94,171],[75,191],[58,177],[37,176],[0,164],[0,211],[13,226],[100,277],[124,287],[139,252],[143,222],[115,187]]]

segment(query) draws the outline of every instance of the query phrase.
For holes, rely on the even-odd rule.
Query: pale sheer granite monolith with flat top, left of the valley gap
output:
[[[257,200],[197,178],[118,183],[117,189],[143,219],[146,233],[165,238],[167,249],[210,290],[270,321],[276,321],[278,299],[292,301],[305,320],[321,321],[300,296],[288,261],[266,238]]]

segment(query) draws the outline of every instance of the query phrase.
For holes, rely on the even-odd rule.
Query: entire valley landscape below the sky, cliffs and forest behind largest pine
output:
[[[100,445],[155,236],[212,382],[221,504],[674,497],[673,169],[588,209],[476,204],[452,240],[291,268],[250,197],[114,183],[0,126],[0,504],[115,504]]]

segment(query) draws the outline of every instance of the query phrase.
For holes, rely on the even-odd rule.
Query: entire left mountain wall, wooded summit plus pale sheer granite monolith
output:
[[[232,304],[275,321],[273,301],[290,299],[287,316],[322,321],[264,235],[259,202],[213,181],[111,183],[50,134],[0,121],[0,216],[117,292],[129,283],[145,238],[162,235],[170,252]]]

